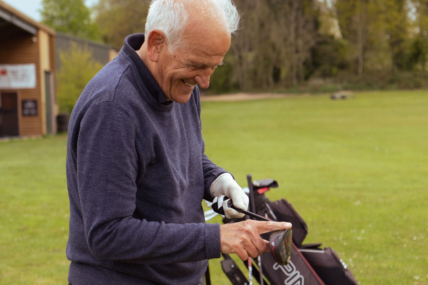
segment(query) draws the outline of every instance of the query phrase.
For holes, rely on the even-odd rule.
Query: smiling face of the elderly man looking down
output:
[[[156,56],[151,58],[150,71],[168,100],[186,103],[195,85],[208,88],[210,76],[222,64],[231,41],[229,32],[217,28],[213,24],[191,21],[185,29],[184,44],[173,53],[169,52],[166,41],[158,41],[161,44]],[[149,41],[150,36],[152,32]]]

